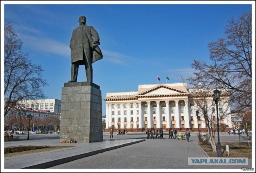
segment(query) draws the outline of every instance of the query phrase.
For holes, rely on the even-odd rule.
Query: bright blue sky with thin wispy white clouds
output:
[[[24,43],[22,51],[44,69],[44,79],[49,84],[44,94],[59,100],[64,83],[70,80],[69,43],[80,16],[86,16],[86,24],[100,36],[104,57],[92,64],[93,82],[100,86],[104,98],[107,92],[136,91],[140,84],[166,83],[166,75],[169,83],[180,82],[177,72],[184,77],[192,74],[193,59],[209,62],[207,45],[225,36],[227,21],[252,9],[244,1],[22,2],[10,1],[2,6],[1,1],[1,34],[3,20],[14,24]],[[83,81],[86,75],[84,66],[80,66],[78,82]],[[102,100],[103,115],[105,104]]]

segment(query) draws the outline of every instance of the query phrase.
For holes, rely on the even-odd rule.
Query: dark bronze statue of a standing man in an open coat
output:
[[[102,59],[103,55],[98,47],[100,37],[92,26],[86,26],[86,17],[80,16],[79,27],[75,28],[70,40],[71,49],[71,80],[77,81],[79,65],[85,66],[86,78],[92,82],[92,63]]]

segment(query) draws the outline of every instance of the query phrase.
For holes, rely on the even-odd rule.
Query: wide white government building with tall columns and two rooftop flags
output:
[[[200,131],[207,131],[203,115],[199,113],[199,120],[196,116],[198,108],[186,86],[186,83],[146,84],[139,85],[138,91],[108,92],[103,98],[106,101],[106,130],[111,127],[133,132],[147,128],[198,131],[199,124]],[[226,100],[228,98],[220,98],[218,102],[219,117],[223,110],[227,114],[219,123],[231,128],[230,107]],[[216,105],[212,97],[208,97],[207,104],[216,127]]]

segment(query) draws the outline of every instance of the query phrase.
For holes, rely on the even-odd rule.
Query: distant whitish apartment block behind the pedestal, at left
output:
[[[32,108],[35,110],[48,110],[56,114],[60,114],[61,110],[61,100],[58,99],[22,100],[18,101],[18,104],[23,108]]]

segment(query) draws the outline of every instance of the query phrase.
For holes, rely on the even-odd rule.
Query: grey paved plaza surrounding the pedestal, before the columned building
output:
[[[30,135],[31,140],[5,142],[5,147],[15,145],[73,145],[74,147],[6,157],[4,168],[47,168],[53,171],[58,169],[78,169],[77,171],[82,169],[148,169],[149,172],[152,169],[155,171],[156,169],[182,169],[186,172],[186,169],[241,170],[241,167],[252,167],[252,159],[248,159],[249,165],[244,166],[188,165],[188,157],[208,157],[196,143],[197,133],[191,133],[190,142],[168,139],[168,134],[164,135],[164,139],[147,139],[146,134],[114,134],[113,139],[109,136],[109,133],[104,133],[103,142],[87,144],[60,143],[57,134]],[[238,136],[220,134],[220,140],[223,142],[236,141],[236,138]],[[30,171],[30,169],[27,170]]]

